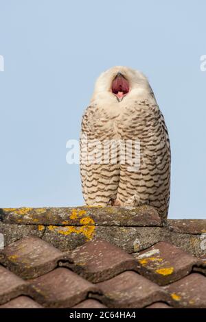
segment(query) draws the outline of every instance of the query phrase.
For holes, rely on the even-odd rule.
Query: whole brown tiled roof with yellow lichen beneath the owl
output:
[[[151,207],[1,210],[0,308],[206,308],[206,221]]]

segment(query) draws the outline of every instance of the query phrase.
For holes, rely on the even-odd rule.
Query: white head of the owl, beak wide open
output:
[[[104,71],[95,83],[91,102],[106,100],[113,103],[148,97],[151,94],[148,79],[139,71],[115,66]]]

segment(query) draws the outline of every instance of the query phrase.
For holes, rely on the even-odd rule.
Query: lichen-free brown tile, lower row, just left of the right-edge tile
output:
[[[167,295],[145,277],[127,271],[111,280],[98,283],[103,295],[97,295],[109,308],[144,308],[154,301],[164,301]]]

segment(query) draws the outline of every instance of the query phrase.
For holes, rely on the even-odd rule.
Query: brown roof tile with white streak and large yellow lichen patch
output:
[[[133,256],[139,263],[137,271],[159,285],[179,280],[198,262],[194,256],[166,242],[159,242]]]

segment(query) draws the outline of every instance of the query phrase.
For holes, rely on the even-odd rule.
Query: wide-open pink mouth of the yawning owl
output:
[[[117,97],[118,101],[122,101],[123,97],[128,94],[130,85],[128,80],[118,73],[115,79],[113,79],[111,91]]]

